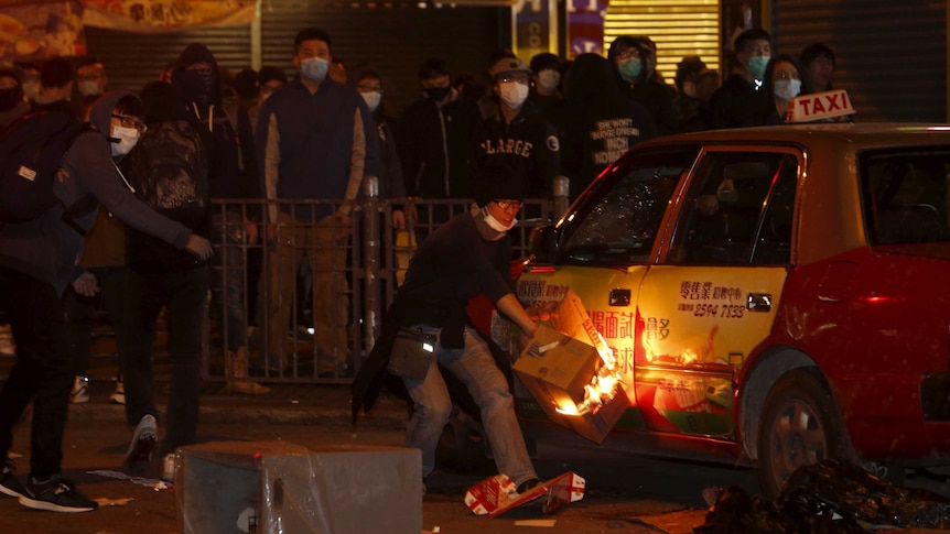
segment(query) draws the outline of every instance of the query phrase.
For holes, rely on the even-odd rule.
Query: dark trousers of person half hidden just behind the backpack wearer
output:
[[[116,336],[116,353],[122,353],[122,322],[125,315],[122,305],[125,297],[122,290],[125,284],[126,268],[90,268],[89,272],[99,281],[99,294],[96,296],[83,296],[66,288],[63,297],[63,307],[66,314],[66,335],[58,341],[64,344],[63,350],[73,355],[73,374],[84,377],[89,370],[89,350],[93,346],[93,322],[96,309],[101,302],[106,308],[112,331]],[[100,301],[101,299],[101,301]],[[119,374],[121,374],[121,358],[119,359]]]

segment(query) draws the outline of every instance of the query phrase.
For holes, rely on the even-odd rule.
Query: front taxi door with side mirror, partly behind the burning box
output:
[[[577,295],[616,359],[634,408],[619,427],[645,429],[633,405],[638,292],[659,246],[668,206],[699,152],[695,145],[655,150],[608,171],[565,214],[557,258],[528,264],[518,277],[518,298],[526,307],[557,305],[569,292]],[[517,385],[516,396],[522,416],[543,415]]]

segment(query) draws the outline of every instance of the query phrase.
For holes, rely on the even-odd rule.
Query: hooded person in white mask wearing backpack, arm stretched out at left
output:
[[[26,135],[36,117],[25,116],[20,126],[0,137],[0,161],[8,163],[30,152],[4,152],[7,137]],[[91,274],[79,275],[77,259],[84,248],[83,232],[95,221],[99,204],[128,227],[185,249],[198,261],[206,261],[213,252],[207,239],[136,198],[116,166],[116,160],[136,145],[144,129],[141,100],[127,91],[107,92],[93,107],[90,123],[65,153],[45,154],[45,160],[58,163],[55,179],[34,173],[32,182],[51,184],[56,198],[52,207],[19,221],[11,221],[0,210],[0,312],[10,319],[18,346],[17,362],[0,390],[0,493],[19,498],[24,506],[55,512],[98,508],[62,475],[73,369],[71,355],[57,350],[56,339],[64,328],[62,296],[66,286],[72,284],[86,295],[97,291]],[[33,146],[33,152],[40,151],[39,146]],[[18,177],[7,168],[0,170],[0,198]],[[24,172],[26,165],[20,168]],[[23,483],[15,476],[9,453],[13,426],[30,402],[30,473]]]

